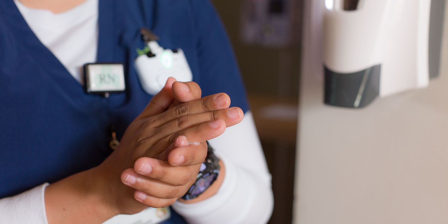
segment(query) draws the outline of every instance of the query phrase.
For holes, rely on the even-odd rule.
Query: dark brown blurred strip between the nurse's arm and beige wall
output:
[[[302,0],[212,2],[233,44],[272,174],[270,223],[291,223]]]

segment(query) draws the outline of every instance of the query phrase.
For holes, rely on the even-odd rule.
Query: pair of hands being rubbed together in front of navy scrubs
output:
[[[242,110],[229,105],[225,93],[201,98],[195,82],[169,78],[95,168],[112,213],[167,207],[181,198],[207,155],[206,141],[243,119]]]

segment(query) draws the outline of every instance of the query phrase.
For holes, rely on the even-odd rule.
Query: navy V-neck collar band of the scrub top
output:
[[[111,62],[114,59],[114,0],[99,0],[99,37],[97,61]],[[88,110],[90,103],[101,99],[100,96],[86,94],[83,86],[69,73],[53,53],[40,42],[30,29],[13,0],[0,0],[0,10],[5,15],[6,24],[14,39],[23,46],[25,52],[56,82],[56,85],[82,110]],[[32,72],[31,72],[32,73]]]

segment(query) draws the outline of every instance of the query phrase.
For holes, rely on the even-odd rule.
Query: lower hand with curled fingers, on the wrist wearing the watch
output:
[[[224,125],[224,122],[222,123],[221,125]],[[137,159],[134,168],[129,168],[121,174],[121,181],[135,189],[134,198],[146,206],[172,205],[194,184],[207,155],[206,142],[198,145],[190,143],[185,136],[179,136],[170,146],[174,149],[170,155],[187,155],[188,158],[184,159],[182,156],[181,160],[176,161],[179,157],[175,157],[172,160],[176,163],[170,164],[161,159],[142,157]]]

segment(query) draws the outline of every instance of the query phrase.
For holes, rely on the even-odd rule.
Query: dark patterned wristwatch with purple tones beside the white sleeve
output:
[[[205,161],[201,164],[196,181],[187,191],[187,193],[182,196],[184,200],[190,200],[197,198],[205,190],[207,190],[213,182],[216,181],[218,175],[220,174],[220,159],[216,157],[213,153],[213,148],[207,142],[207,157]]]

